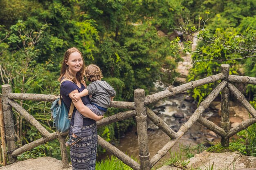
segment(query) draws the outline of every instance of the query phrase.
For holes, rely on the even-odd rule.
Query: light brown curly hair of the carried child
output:
[[[103,78],[101,69],[95,64],[90,64],[85,68],[85,77],[89,82],[94,82]]]

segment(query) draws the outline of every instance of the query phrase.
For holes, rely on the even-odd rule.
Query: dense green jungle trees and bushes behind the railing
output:
[[[180,55],[191,52],[191,39],[187,36],[180,49],[174,29],[184,35],[199,31],[204,39],[192,55],[188,81],[220,73],[218,60],[227,59],[233,59],[225,61],[230,74],[256,77],[255,0],[0,0],[0,84],[11,84],[14,93],[58,94],[63,54],[75,46],[85,64],[100,66],[117,91],[115,100],[132,101],[136,88],[149,94],[154,82],[172,84],[179,75],[175,68]],[[191,93],[201,101],[214,86]],[[245,94],[256,106],[256,86],[247,86]],[[20,105],[54,131],[49,102]],[[110,108],[106,114],[119,111]],[[14,114],[17,147],[41,137]],[[118,141],[134,125],[128,119],[100,128],[99,134]],[[38,150],[60,158],[60,150],[51,147],[59,146],[52,141]]]

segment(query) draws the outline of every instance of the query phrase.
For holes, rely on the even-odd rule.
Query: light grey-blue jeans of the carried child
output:
[[[99,108],[97,108],[97,106],[94,106],[92,104],[87,104],[86,106],[88,108],[90,108],[90,110],[92,110],[92,112],[98,116],[103,116],[104,113],[106,113],[103,110],[100,110]],[[81,130],[82,130],[82,126],[83,126],[83,118],[85,118],[85,116],[83,116],[81,113],[79,113],[78,110],[76,110],[76,113],[74,116],[73,133],[78,137],[81,136]]]

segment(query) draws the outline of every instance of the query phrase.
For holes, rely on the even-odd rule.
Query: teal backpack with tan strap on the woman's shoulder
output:
[[[71,80],[63,79],[61,80],[61,83],[65,81]],[[52,107],[50,108],[50,110],[52,111],[53,126],[55,126],[59,132],[67,132],[70,129],[70,121],[72,119],[74,103],[71,103],[70,110],[68,112],[67,106],[63,102],[63,99],[60,95],[60,98],[52,102]]]

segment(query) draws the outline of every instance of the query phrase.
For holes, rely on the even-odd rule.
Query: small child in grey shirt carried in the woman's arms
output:
[[[101,80],[101,78],[103,78],[101,69],[94,64],[90,64],[85,68],[85,77],[91,83],[81,91],[81,93],[74,94],[72,101],[77,102],[83,96],[92,95],[90,98],[92,104],[87,104],[86,106],[96,115],[102,116],[108,110],[110,102],[114,99],[116,92],[108,82]],[[84,116],[79,112],[75,113],[73,134],[72,137],[67,140],[66,146],[72,146],[81,140],[83,117]]]

